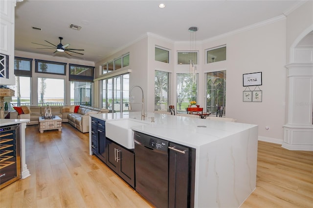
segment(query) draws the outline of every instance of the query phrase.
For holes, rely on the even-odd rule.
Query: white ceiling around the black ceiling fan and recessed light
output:
[[[160,9],[159,3],[166,7]],[[190,41],[188,28],[197,26],[203,41],[265,21],[297,7],[299,0],[23,0],[15,9],[15,49],[52,55],[54,49],[33,44],[70,43],[84,55],[54,56],[96,62],[147,32],[173,42]],[[80,31],[70,24],[82,26]],[[42,31],[31,27],[42,28]],[[80,52],[80,51],[77,51]]]

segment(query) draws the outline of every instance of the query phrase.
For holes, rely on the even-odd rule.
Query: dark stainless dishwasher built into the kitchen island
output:
[[[168,207],[168,141],[134,132],[135,189],[156,208]]]

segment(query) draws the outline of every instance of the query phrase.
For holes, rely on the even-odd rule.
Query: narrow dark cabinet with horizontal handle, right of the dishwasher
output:
[[[169,208],[194,207],[196,149],[169,144]]]

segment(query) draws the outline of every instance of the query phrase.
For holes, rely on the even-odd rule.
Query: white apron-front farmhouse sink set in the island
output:
[[[138,125],[149,124],[130,119],[107,121],[106,137],[128,149],[134,149],[134,131],[131,127]]]

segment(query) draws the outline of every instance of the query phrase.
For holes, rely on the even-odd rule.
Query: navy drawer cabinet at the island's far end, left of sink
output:
[[[91,118],[91,150],[93,154],[107,163],[105,121]]]

